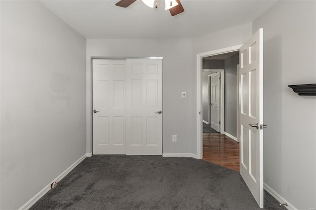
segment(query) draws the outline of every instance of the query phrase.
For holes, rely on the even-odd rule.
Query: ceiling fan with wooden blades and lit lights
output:
[[[132,3],[134,3],[136,0],[120,0],[115,5],[121,6],[121,7],[128,7]],[[149,7],[155,7],[157,8],[157,0],[142,0],[147,6]],[[180,14],[184,11],[184,8],[180,2],[180,0],[165,0],[165,8],[166,10],[169,9],[172,16],[175,16],[177,14]]]

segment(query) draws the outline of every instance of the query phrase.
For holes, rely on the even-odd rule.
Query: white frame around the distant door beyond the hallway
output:
[[[225,98],[225,91],[224,91],[224,84],[225,84],[225,69],[203,69],[203,71],[209,71],[210,73],[215,73],[215,72],[220,72],[221,73],[221,85],[220,85],[220,98],[221,98],[221,102],[220,102],[220,122],[221,122],[221,124],[220,124],[220,133],[221,134],[224,134],[224,120],[225,120],[225,118],[224,118],[224,116],[225,116],[225,112],[224,112],[224,98]],[[211,85],[211,83],[210,83],[210,76],[211,76],[211,74],[210,75],[208,75],[207,77],[208,77],[208,95],[210,96],[210,85]],[[209,118],[209,116],[210,116],[210,106],[209,106],[209,104],[210,104],[210,97],[208,96],[208,106],[207,106],[207,121],[208,121],[208,123],[210,123],[210,118]],[[202,115],[202,113],[201,113],[201,115]]]

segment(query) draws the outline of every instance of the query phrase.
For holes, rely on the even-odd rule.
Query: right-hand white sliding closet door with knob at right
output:
[[[126,154],[162,154],[162,60],[126,60]]]

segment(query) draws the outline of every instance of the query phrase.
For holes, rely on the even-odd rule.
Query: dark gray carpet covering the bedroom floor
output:
[[[278,210],[267,192],[265,209]],[[190,157],[93,155],[31,210],[260,210],[239,173]]]

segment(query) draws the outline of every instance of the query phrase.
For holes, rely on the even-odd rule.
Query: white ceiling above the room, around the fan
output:
[[[185,11],[171,16],[137,0],[127,8],[118,0],[40,0],[86,38],[192,38],[252,22],[276,0],[181,0]]]

